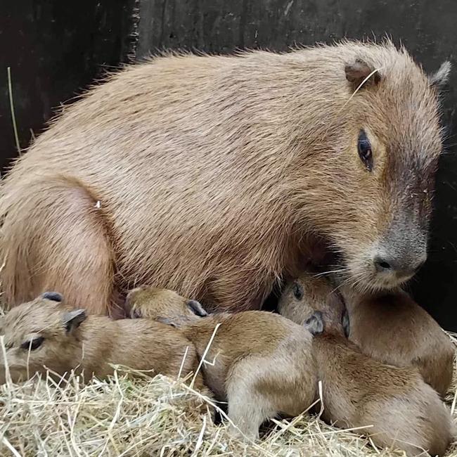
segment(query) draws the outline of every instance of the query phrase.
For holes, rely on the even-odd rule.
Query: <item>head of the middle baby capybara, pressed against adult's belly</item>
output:
[[[125,304],[131,317],[150,318],[175,327],[207,316],[199,302],[181,297],[174,290],[148,285],[130,290]]]

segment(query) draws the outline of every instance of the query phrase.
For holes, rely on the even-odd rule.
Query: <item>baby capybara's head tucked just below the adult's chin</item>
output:
[[[349,336],[349,315],[340,295],[326,278],[303,273],[285,286],[278,311],[313,334]]]

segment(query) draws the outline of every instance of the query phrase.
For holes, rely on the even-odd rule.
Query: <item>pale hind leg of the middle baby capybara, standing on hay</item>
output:
[[[259,427],[267,418],[276,416],[268,397],[257,390],[257,374],[250,358],[238,361],[226,380],[228,418],[234,435],[259,438]]]

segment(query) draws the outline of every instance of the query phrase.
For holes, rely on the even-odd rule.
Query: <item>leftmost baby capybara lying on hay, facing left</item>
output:
[[[68,309],[56,292],[8,311],[0,320],[0,335],[13,382],[46,368],[58,375],[75,369],[103,378],[114,371],[110,363],[175,377],[198,366],[195,348],[176,328],[150,319],[87,316],[84,309]],[[5,365],[0,349],[2,383]],[[203,386],[201,376],[195,385]]]

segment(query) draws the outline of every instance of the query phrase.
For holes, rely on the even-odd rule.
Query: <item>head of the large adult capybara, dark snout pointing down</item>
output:
[[[393,288],[411,278],[427,257],[442,150],[439,86],[450,65],[427,77],[392,44],[343,44],[329,54],[338,52],[339,58],[331,58],[340,60],[340,67],[331,68],[330,56],[322,53],[323,70],[316,69],[320,86],[314,96],[328,97],[328,112],[322,129],[316,126],[318,154],[303,159],[306,178],[300,177],[298,163],[294,172],[299,199],[302,182],[300,217],[330,240],[352,286]],[[322,80],[328,82],[328,94],[319,92]],[[304,129],[297,141],[307,144],[310,134]]]

